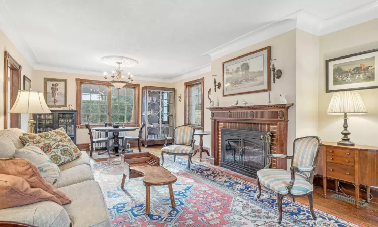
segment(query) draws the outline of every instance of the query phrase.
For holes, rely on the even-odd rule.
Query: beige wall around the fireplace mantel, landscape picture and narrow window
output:
[[[282,77],[279,80],[276,80],[276,83],[271,83],[271,104],[279,103],[279,96],[281,93],[286,95],[286,99],[288,103],[295,103],[295,72],[296,72],[296,30],[289,31],[285,34],[267,39],[263,42],[260,42],[255,45],[248,46],[241,50],[235,51],[233,53],[227,54],[222,58],[216,59],[211,62],[211,72],[204,73],[201,75],[197,75],[194,77],[187,78],[185,80],[181,80],[175,83],[174,87],[176,88],[177,94],[182,94],[184,97],[184,83],[186,81],[195,80],[201,77],[205,77],[204,81],[204,91],[205,91],[205,98],[204,98],[204,128],[205,130],[211,130],[211,120],[210,120],[210,111],[206,109],[209,106],[209,102],[207,99],[207,91],[209,88],[212,88],[212,99],[216,100],[219,97],[219,106],[228,106],[239,101],[238,105],[243,105],[243,99],[247,102],[253,103],[255,105],[265,105],[268,104],[268,92],[262,93],[255,93],[255,94],[245,94],[245,95],[235,95],[235,96],[222,96],[222,89],[223,89],[223,81],[222,81],[222,68],[223,62],[236,58],[237,56],[243,55],[245,53],[249,53],[255,51],[257,49],[261,49],[267,46],[271,46],[271,57],[277,58],[277,68],[282,70]],[[216,74],[215,76],[217,82],[221,82],[222,87],[220,90],[214,92],[214,77],[212,75]],[[292,141],[295,138],[295,108],[296,105],[289,109],[289,133],[288,133],[288,152],[289,154],[292,152]],[[181,103],[177,104],[176,108],[177,116],[184,116],[184,100]],[[176,125],[183,124],[184,119],[177,118]],[[198,139],[196,139],[196,144],[198,143]],[[211,146],[211,137],[204,136],[204,146],[210,147]]]

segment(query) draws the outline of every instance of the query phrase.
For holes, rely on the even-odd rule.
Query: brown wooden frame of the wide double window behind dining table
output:
[[[77,129],[83,129],[85,128],[85,125],[81,122],[81,88],[83,84],[87,85],[99,85],[99,86],[108,86],[108,112],[107,112],[107,119],[110,119],[110,111],[111,111],[111,87],[113,85],[108,81],[100,81],[100,80],[87,80],[87,79],[80,79],[76,78],[76,110],[77,110]],[[140,84],[127,84],[123,87],[132,87],[134,88],[134,115],[135,115],[135,124],[127,124],[127,126],[131,127],[139,127],[139,109],[140,109],[140,96],[139,96],[139,88]],[[104,126],[104,124],[91,124],[91,127],[99,127]]]

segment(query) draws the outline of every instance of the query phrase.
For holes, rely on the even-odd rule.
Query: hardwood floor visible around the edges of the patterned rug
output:
[[[145,148],[142,146],[141,151],[151,152],[157,156],[160,156],[161,148],[162,146],[149,146],[148,148]],[[134,152],[138,152],[138,148],[133,147],[132,149],[134,149]],[[98,150],[93,152],[93,155],[91,158],[92,163],[119,158],[113,154],[110,157],[107,154],[98,155],[97,152]],[[89,154],[89,151],[87,151],[87,153]],[[186,156],[181,156],[181,157],[187,159]],[[200,155],[199,153],[197,153],[196,156],[192,157],[192,161],[202,163],[202,164],[209,164],[209,157],[205,153],[203,153],[202,162],[200,162]],[[246,177],[244,175],[229,171],[228,169],[222,168],[220,166],[213,166],[213,165],[211,166],[217,169],[220,169],[222,171],[225,171],[227,173],[230,173],[234,176],[245,179],[247,181],[256,182],[255,179],[253,178]],[[346,187],[346,188],[343,188],[343,191],[346,192],[347,194],[354,195],[353,188],[350,189]],[[331,197],[332,194],[334,194],[334,192],[328,191],[327,198],[323,198],[323,188],[317,187],[314,190],[314,207],[316,209],[341,217],[343,219],[354,222],[361,226],[378,226],[378,194],[376,192],[372,192],[374,198],[371,200],[371,203],[369,203],[365,207],[360,207],[359,209],[354,208],[353,203],[349,203],[340,199],[332,198]],[[365,192],[361,191],[361,194],[365,195]],[[361,199],[364,199],[364,198],[365,197],[361,196]],[[309,204],[307,197],[297,198],[296,200],[297,202],[301,202],[307,205]]]

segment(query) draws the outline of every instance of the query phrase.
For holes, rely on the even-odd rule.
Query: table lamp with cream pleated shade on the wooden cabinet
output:
[[[327,113],[329,115],[344,115],[344,130],[341,132],[343,137],[341,138],[341,141],[337,142],[337,144],[354,146],[354,143],[348,138],[350,132],[348,131],[347,113],[359,115],[367,113],[358,91],[340,91],[334,93],[330,105],[328,106]]]

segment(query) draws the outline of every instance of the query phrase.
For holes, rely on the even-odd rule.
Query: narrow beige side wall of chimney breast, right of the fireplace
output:
[[[296,138],[318,135],[318,77],[319,37],[297,29]]]

